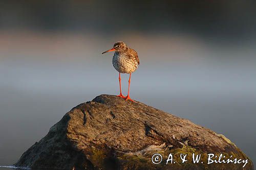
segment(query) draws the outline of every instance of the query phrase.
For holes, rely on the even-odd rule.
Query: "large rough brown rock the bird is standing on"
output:
[[[153,164],[155,153],[163,156]],[[175,164],[166,159],[172,153]],[[180,154],[188,154],[181,163]],[[192,153],[203,164],[191,163]],[[212,163],[207,153],[248,159],[242,164]],[[223,135],[140,102],[100,95],[80,104],[20,157],[16,166],[63,169],[253,169],[251,160]]]

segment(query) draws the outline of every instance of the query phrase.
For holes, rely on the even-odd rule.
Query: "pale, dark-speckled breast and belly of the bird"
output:
[[[122,53],[115,52],[112,64],[120,73],[130,74],[138,68],[138,62],[135,58],[129,58]]]

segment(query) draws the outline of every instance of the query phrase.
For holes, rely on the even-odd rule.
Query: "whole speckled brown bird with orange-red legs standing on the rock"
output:
[[[132,101],[135,102],[130,98],[130,84],[131,84],[131,76],[132,73],[138,68],[140,64],[140,60],[138,57],[138,54],[135,50],[127,46],[123,41],[117,41],[114,43],[113,48],[111,48],[108,51],[103,52],[115,52],[112,64],[114,68],[119,72],[119,88],[120,88],[120,94],[117,95],[121,98],[124,98],[125,101]],[[123,96],[122,89],[121,89],[121,75],[120,74],[130,74],[129,77],[129,86],[128,86],[128,94],[127,96]]]

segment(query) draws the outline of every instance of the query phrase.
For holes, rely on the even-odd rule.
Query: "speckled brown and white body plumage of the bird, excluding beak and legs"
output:
[[[123,42],[114,44],[114,46],[117,45],[120,45],[120,50],[115,52],[112,64],[118,72],[131,74],[138,68],[140,63],[138,54]]]

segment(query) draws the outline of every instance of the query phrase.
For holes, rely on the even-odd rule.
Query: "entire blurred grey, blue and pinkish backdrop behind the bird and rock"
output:
[[[0,1],[0,165],[71,108],[118,94],[114,42],[140,65],[131,98],[225,135],[256,162],[255,1]],[[129,75],[122,75],[127,93]]]

